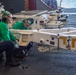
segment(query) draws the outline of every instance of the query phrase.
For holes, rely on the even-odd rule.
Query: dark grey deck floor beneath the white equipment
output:
[[[5,68],[1,63],[0,75],[76,75],[76,51],[60,49],[42,53],[35,46],[21,66]]]

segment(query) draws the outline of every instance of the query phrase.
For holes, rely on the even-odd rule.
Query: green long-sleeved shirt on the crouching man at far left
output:
[[[15,41],[16,37],[9,31],[8,25],[4,22],[0,22],[0,41]]]

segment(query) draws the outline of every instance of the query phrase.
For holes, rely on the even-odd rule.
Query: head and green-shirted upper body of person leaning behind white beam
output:
[[[27,18],[22,21],[18,21],[12,25],[12,29],[22,29],[29,30],[29,26],[33,24],[34,20],[32,18]]]

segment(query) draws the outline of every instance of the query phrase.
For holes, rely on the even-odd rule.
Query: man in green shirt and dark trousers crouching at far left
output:
[[[0,53],[6,51],[5,67],[15,67],[20,65],[18,62],[14,62],[12,58],[17,39],[9,31],[9,21],[11,21],[11,17],[7,14],[2,17],[2,22],[0,22]]]

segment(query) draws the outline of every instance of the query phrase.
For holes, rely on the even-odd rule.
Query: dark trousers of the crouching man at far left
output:
[[[6,61],[12,61],[14,43],[12,41],[5,41],[0,43],[0,54],[6,52]]]

